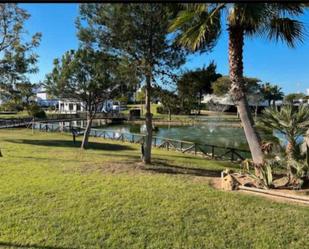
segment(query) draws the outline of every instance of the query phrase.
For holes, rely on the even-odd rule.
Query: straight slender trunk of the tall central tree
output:
[[[146,107],[146,114],[145,114],[145,122],[146,122],[146,141],[144,143],[144,157],[143,162],[145,164],[151,163],[151,142],[152,142],[152,114],[151,114],[151,80],[152,74],[151,70],[149,70],[148,74],[146,75],[146,96],[145,96],[145,107]]]

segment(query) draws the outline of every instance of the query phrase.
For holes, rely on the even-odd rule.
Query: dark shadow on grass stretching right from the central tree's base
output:
[[[204,177],[220,177],[221,170],[202,169],[202,168],[190,168],[185,166],[178,166],[169,164],[166,161],[154,161],[152,165],[145,167],[145,170],[149,170],[156,173],[165,174],[182,174]]]

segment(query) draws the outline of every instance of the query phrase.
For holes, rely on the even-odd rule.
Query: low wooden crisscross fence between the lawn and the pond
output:
[[[34,128],[47,132],[72,132],[72,130],[74,129],[75,132],[77,131],[79,134],[82,134],[82,132],[84,131],[84,128],[81,127],[59,126],[53,123],[39,122],[36,122],[34,124]],[[90,136],[139,144],[144,143],[146,138],[146,135],[144,134],[118,132],[114,130],[102,129],[91,129]],[[152,137],[152,146],[155,148],[179,151],[181,153],[199,155],[210,159],[242,161],[245,158],[251,158],[250,151],[248,150],[211,144],[194,143],[158,136]]]

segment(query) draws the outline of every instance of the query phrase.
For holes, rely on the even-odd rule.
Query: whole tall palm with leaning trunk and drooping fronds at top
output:
[[[222,30],[221,17],[227,17],[229,34],[230,93],[236,103],[245,135],[257,166],[264,162],[260,138],[248,108],[243,80],[244,37],[264,35],[294,47],[303,39],[303,24],[291,18],[303,13],[303,5],[294,3],[205,3],[182,5],[170,25],[177,31],[178,43],[192,51],[214,47]],[[259,167],[256,167],[257,169]]]

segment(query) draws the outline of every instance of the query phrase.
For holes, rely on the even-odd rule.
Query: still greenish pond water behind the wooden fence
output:
[[[204,118],[195,125],[156,125],[153,135],[161,138],[170,138],[195,142],[199,144],[217,145],[221,147],[233,147],[248,150],[248,143],[245,138],[244,131],[237,126],[237,120],[227,120],[222,118]],[[69,126],[69,122],[65,122],[65,126]],[[236,125],[235,125],[236,124]],[[238,122],[239,124],[239,122]],[[57,125],[58,124],[55,124]],[[63,125],[63,123],[59,123]],[[85,127],[86,121],[73,121],[73,126]],[[106,125],[104,120],[93,120],[93,128],[96,130],[108,130],[111,132],[145,134],[145,124],[117,124]],[[117,136],[119,136],[119,134]],[[286,145],[287,141],[283,134],[274,132],[279,138],[281,145]],[[299,138],[301,142],[303,138]]]

